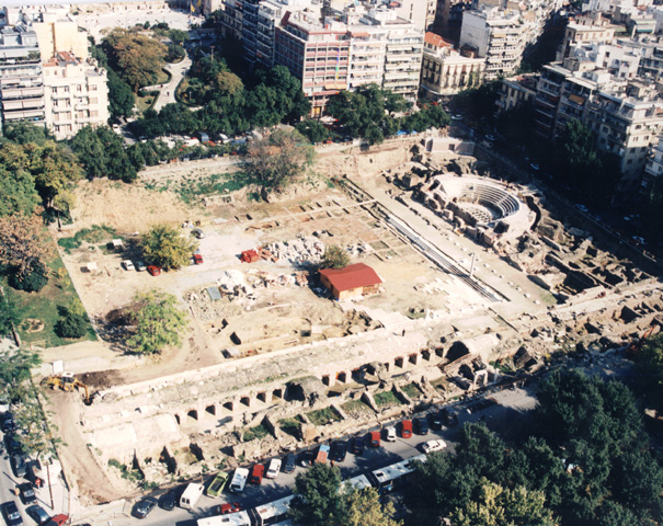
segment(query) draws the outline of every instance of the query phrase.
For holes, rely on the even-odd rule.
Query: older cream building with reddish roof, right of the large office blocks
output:
[[[464,55],[434,33],[425,34],[421,88],[427,99],[439,101],[460,90],[478,87],[484,69],[484,59]]]

